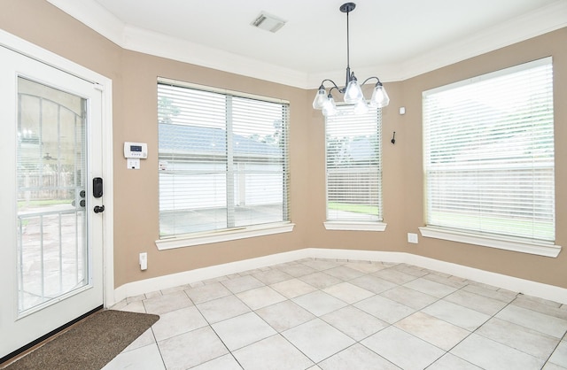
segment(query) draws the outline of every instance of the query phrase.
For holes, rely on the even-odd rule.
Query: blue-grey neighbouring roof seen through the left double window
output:
[[[240,155],[278,156],[278,145],[262,143],[242,135],[233,135],[234,152]],[[196,127],[159,124],[159,151],[175,153],[226,153],[226,130],[214,127]]]

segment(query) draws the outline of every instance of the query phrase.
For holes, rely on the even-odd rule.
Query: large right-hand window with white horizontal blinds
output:
[[[423,147],[427,227],[555,242],[551,58],[425,91]]]

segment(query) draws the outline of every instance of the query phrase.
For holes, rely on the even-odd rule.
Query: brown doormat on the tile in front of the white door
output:
[[[158,315],[147,313],[99,311],[6,369],[98,370],[157,320]]]

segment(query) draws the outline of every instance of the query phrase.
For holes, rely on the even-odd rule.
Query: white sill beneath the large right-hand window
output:
[[[523,238],[481,235],[440,227],[419,227],[419,231],[424,237],[481,245],[483,247],[498,248],[506,251],[519,251],[544,257],[555,258],[561,251],[561,246],[555,245],[554,243],[537,242]]]

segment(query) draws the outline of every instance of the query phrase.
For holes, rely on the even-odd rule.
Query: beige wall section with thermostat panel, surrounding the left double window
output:
[[[297,224],[292,233],[214,243],[168,251],[158,251],[154,241],[159,235],[158,204],[158,125],[157,77],[190,81],[290,101],[291,127],[291,217]],[[122,83],[126,94],[120,109],[121,122],[114,122],[114,151],[120,153],[124,141],[148,143],[151,155],[140,171],[128,171],[120,154],[114,160],[114,248],[117,286],[128,281],[172,274],[190,269],[292,251],[305,245],[308,217],[307,171],[307,92],[275,83],[221,73],[198,66],[124,51]],[[131,133],[130,133],[131,130]],[[136,184],[144,186],[136,187]],[[128,185],[134,191],[128,192]],[[128,209],[128,212],[122,210]],[[148,251],[146,272],[140,272],[137,254]]]

